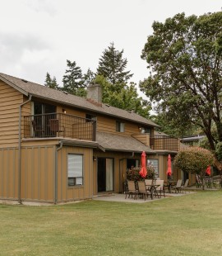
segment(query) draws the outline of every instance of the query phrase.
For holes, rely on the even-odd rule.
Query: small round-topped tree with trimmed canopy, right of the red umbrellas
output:
[[[187,172],[200,175],[203,189],[206,168],[214,163],[214,155],[207,149],[189,147],[180,151],[173,161],[175,167]]]

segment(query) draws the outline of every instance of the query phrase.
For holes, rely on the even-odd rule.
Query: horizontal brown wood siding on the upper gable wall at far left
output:
[[[23,95],[0,82],[0,148],[18,145],[19,106]]]

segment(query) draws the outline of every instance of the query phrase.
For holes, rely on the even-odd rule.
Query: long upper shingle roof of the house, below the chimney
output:
[[[13,88],[16,88],[16,90],[20,91],[26,96],[33,95],[35,97],[40,97],[53,102],[59,102],[63,105],[78,107],[84,110],[93,111],[108,116],[115,116],[128,121],[135,121],[146,126],[158,126],[154,122],[147,120],[146,118],[139,116],[136,113],[125,111],[117,107],[111,107],[106,104],[102,104],[102,106],[99,107],[92,102],[87,101],[84,97],[77,97],[72,94],[67,94],[65,92],[45,87],[38,83],[26,81],[22,78],[15,78],[7,74],[0,73],[0,80],[11,85]]]

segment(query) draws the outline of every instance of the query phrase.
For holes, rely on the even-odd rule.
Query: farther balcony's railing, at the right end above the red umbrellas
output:
[[[179,150],[179,140],[177,138],[154,135],[150,137],[150,148],[154,150]]]

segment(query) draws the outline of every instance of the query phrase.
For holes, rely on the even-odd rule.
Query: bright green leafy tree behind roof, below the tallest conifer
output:
[[[103,88],[102,99],[104,103],[127,111],[135,111],[146,118],[150,116],[151,107],[146,100],[138,97],[135,83],[130,83],[129,85],[122,83],[119,86],[120,89],[116,91],[114,90],[115,85],[109,83],[104,76],[97,75],[95,83],[99,83]]]

